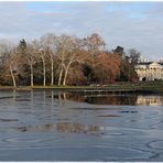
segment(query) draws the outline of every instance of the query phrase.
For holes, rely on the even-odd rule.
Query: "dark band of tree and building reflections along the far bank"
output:
[[[139,94],[58,93],[54,98],[96,105],[163,105],[163,96]]]

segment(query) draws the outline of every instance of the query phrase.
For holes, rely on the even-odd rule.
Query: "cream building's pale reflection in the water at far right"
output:
[[[162,96],[138,96],[137,105],[160,106],[163,105]]]

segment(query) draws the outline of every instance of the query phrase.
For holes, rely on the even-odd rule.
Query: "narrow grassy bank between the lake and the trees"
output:
[[[142,93],[163,93],[163,82],[139,82],[139,83],[115,83],[108,85],[90,86],[34,86],[18,88],[0,86],[0,90],[69,90],[69,91],[142,91]]]

